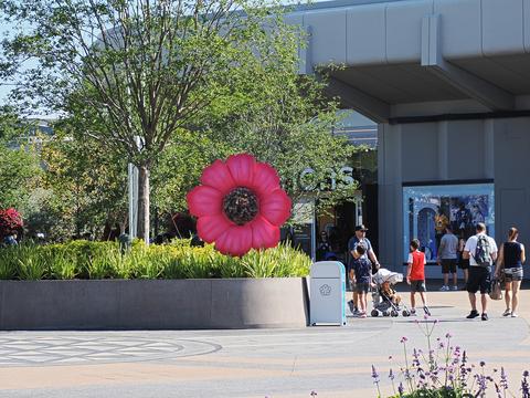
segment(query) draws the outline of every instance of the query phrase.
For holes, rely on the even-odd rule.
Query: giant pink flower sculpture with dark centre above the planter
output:
[[[273,167],[247,154],[233,155],[206,167],[201,182],[188,193],[188,207],[199,218],[203,241],[231,255],[278,244],[292,203]]]

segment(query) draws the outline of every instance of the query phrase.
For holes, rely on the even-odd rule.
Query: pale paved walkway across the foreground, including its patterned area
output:
[[[530,367],[530,290],[521,292],[519,318],[502,318],[504,302],[491,302],[488,322],[465,320],[465,292],[428,298],[439,320],[434,336],[449,332],[471,362],[504,365],[518,392]],[[390,394],[389,356],[398,370],[402,336],[426,345],[404,317],[301,329],[1,332],[0,397],[374,397],[371,365]]]

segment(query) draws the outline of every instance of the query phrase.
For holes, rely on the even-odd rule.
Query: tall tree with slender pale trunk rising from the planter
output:
[[[269,3],[269,2],[268,2]],[[226,94],[267,42],[286,36],[263,0],[4,0],[25,32],[4,42],[19,67],[14,95],[34,106],[85,115],[85,134],[139,168],[138,234],[149,238],[149,175],[180,128]],[[7,69],[6,69],[7,70]],[[142,145],[137,146],[135,137]]]

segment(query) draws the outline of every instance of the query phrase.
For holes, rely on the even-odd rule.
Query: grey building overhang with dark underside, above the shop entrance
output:
[[[329,93],[344,107],[380,123],[530,109],[530,0],[347,3],[287,17],[309,33],[301,73],[341,65]]]

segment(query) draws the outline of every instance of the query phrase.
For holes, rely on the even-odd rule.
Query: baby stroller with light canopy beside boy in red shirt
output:
[[[402,311],[403,316],[410,316],[411,312],[403,304],[396,305],[392,302],[391,297],[383,291],[383,283],[389,282],[390,285],[394,285],[398,282],[403,282],[403,274],[398,272],[392,272],[386,269],[380,269],[372,276],[375,287],[372,289],[372,305],[373,310],[370,313],[372,316],[399,316],[400,311]]]

